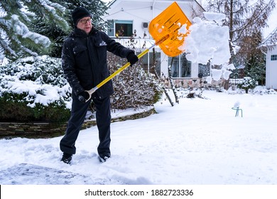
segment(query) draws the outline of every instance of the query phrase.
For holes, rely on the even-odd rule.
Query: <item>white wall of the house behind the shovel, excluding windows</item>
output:
[[[159,1],[159,0],[117,0],[110,5],[110,9],[108,9],[107,13],[109,15],[104,16],[104,20],[129,20],[133,21],[134,30],[136,30],[136,48],[141,48],[144,41],[147,41],[146,48],[149,48],[151,45],[155,43],[153,38],[151,37],[148,28],[143,28],[143,23],[150,23],[150,21],[161,14],[163,10],[165,10],[170,4],[174,1]],[[201,9],[199,4],[193,0],[183,0],[176,1],[180,8],[183,10],[184,14],[192,21],[192,7]],[[108,30],[109,31],[109,30]],[[143,37],[143,35],[145,35]],[[121,43],[122,45],[128,46],[128,38],[116,38],[116,41]],[[168,56],[163,53],[163,51],[155,47],[156,52],[161,52],[161,74],[168,77]],[[147,56],[147,55],[145,55]],[[175,80],[176,85],[179,85],[181,81],[189,82],[192,79],[198,79],[198,64],[192,63],[191,67],[191,77],[190,78],[178,78]],[[199,81],[197,81],[199,82]],[[186,83],[187,84],[187,83]],[[181,84],[180,84],[181,85]]]

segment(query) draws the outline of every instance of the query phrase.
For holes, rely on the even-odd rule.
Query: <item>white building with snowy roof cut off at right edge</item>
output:
[[[277,90],[277,43],[275,38],[277,28],[264,40],[263,45],[269,45],[266,50],[266,88]]]

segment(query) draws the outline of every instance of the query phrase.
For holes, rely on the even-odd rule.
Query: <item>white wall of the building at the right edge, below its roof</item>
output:
[[[277,60],[271,60],[271,55],[277,55],[277,45],[266,53],[266,88],[277,89]]]

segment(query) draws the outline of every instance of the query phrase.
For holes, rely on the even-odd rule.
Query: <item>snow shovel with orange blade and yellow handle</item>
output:
[[[183,45],[185,41],[185,36],[187,36],[188,28],[190,27],[191,22],[185,16],[182,9],[176,2],[168,6],[161,14],[153,18],[153,20],[149,23],[149,33],[156,41],[150,48],[144,50],[142,53],[138,55],[138,58],[143,57],[146,53],[149,52],[156,45],[159,45],[161,50],[165,55],[170,57],[175,57],[183,53]],[[116,70],[112,75],[109,75],[105,80],[100,82],[97,86],[93,87],[91,90],[86,90],[89,93],[89,99],[92,97],[92,93],[102,87],[109,80],[112,80],[114,76],[119,74],[122,70],[126,69],[131,65],[130,63],[126,63],[119,70]],[[87,99],[86,102],[89,100]]]

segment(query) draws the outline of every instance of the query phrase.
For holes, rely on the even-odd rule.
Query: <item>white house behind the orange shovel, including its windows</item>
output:
[[[135,45],[136,49],[141,48],[142,51],[143,48],[148,48],[155,43],[148,32],[148,24],[173,2],[173,0],[114,0],[109,3],[108,15],[104,16],[104,20],[108,22],[107,34],[125,46]],[[190,21],[195,11],[204,11],[202,6],[194,0],[176,2]],[[130,37],[134,32],[136,33],[134,42],[130,42]],[[154,52],[155,54],[151,51],[143,56],[143,68],[149,69],[153,65],[153,55],[155,55],[158,74],[168,77],[168,66],[171,65],[175,84],[193,86],[199,82],[200,72],[204,77],[210,75],[210,67],[192,64],[186,60],[185,54],[170,58],[158,46],[154,48]]]

